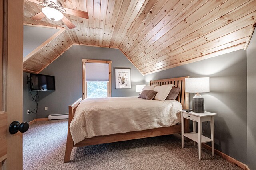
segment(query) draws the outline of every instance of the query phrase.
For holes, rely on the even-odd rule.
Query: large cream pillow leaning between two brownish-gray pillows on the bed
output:
[[[162,85],[162,86],[156,86],[154,88],[154,91],[156,91],[158,93],[156,94],[154,100],[164,101],[167,98],[170,91],[172,90],[173,86],[174,86],[173,84],[166,84],[166,85]]]

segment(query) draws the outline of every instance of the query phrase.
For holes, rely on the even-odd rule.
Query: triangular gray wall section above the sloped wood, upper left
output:
[[[58,31],[59,29],[23,26],[23,57]]]

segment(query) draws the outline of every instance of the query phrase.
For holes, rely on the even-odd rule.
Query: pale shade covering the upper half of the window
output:
[[[86,63],[86,81],[108,81],[108,63]]]

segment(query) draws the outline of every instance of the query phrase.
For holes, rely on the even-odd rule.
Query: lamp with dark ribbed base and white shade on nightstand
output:
[[[195,113],[204,113],[204,98],[199,93],[210,92],[210,78],[185,78],[185,87],[187,93],[196,93],[193,97],[192,111]]]

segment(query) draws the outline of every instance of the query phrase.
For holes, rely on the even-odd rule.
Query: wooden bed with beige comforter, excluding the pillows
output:
[[[71,151],[74,147],[181,133],[181,125],[178,123],[180,120],[178,110],[188,109],[188,93],[185,93],[185,78],[188,77],[150,81],[150,85],[174,84],[179,87],[180,93],[176,100],[147,101],[137,97],[78,99],[69,106],[64,162],[70,162]],[[119,102],[119,107],[114,105],[116,102]],[[100,105],[96,106],[97,103],[102,107],[99,107]],[[131,106],[129,107],[127,103]],[[139,110],[138,103],[144,109]],[[120,107],[120,104],[123,104],[123,107]],[[86,112],[88,110],[84,109],[86,107],[89,108],[92,114]],[[115,108],[124,112],[127,110],[126,107],[131,108],[127,111],[127,114],[122,115],[120,113],[118,115],[118,111],[116,113],[111,111],[112,108]],[[161,108],[163,109],[161,110]],[[166,110],[170,110],[170,113],[167,113]],[[154,111],[157,113],[154,114]],[[142,122],[137,122],[141,119],[143,119]],[[102,120],[103,123],[99,120]],[[118,123],[116,120],[118,120]],[[106,125],[104,125],[104,122],[107,122]],[[112,128],[118,126],[118,124],[118,128]],[[188,122],[185,122],[186,132],[188,132],[188,128]]]

